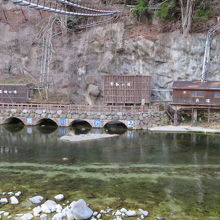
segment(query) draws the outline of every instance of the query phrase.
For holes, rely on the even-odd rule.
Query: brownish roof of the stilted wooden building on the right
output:
[[[174,81],[174,90],[220,90],[220,81]]]

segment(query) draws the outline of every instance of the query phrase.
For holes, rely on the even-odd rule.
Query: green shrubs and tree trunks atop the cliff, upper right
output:
[[[210,19],[218,18],[219,9],[220,2],[216,0],[138,0],[132,12],[139,20],[151,16],[161,23],[172,22],[177,27],[181,26],[183,34],[187,35],[204,31]]]

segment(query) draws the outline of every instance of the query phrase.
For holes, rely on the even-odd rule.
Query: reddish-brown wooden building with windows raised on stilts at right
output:
[[[220,82],[174,81],[173,104],[220,106]]]

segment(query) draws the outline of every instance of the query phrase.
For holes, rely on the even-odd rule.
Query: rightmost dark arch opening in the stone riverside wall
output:
[[[127,131],[128,127],[121,121],[113,120],[107,122],[104,125],[104,129],[106,129],[109,133],[122,134]]]

